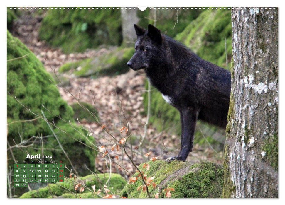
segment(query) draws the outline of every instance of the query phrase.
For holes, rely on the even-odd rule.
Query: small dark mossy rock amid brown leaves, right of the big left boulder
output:
[[[73,119],[75,121],[77,121],[77,119],[79,121],[81,121],[82,119],[85,119],[85,121],[87,122],[96,122],[96,118],[99,121],[99,116],[98,116],[98,111],[94,108],[94,106],[86,103],[86,102],[80,102],[81,105],[79,105],[79,103],[74,103],[71,105],[74,115],[73,115]],[[90,112],[88,112],[86,109],[88,109],[90,112],[92,112],[92,114]]]

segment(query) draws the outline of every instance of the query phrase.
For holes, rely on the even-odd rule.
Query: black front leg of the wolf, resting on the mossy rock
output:
[[[193,138],[198,117],[198,110],[187,107],[180,111],[181,121],[181,148],[177,157],[170,157],[166,161],[181,160],[185,161],[189,152],[193,148]]]

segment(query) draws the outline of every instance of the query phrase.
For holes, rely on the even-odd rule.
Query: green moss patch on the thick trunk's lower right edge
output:
[[[266,153],[266,160],[271,167],[278,171],[278,134],[269,136],[262,150]]]

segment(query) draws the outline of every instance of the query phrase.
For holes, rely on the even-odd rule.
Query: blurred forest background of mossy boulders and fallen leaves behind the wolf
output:
[[[112,168],[117,175],[102,180],[121,190],[136,170],[122,152],[109,155],[118,156],[120,166],[102,158],[100,147],[114,144],[108,133],[119,140],[129,132],[127,147],[136,165],[150,157],[144,156],[149,151],[160,159],[177,155],[178,111],[153,87],[148,106],[144,72],[132,73],[126,66],[134,54],[134,23],[143,28],[155,23],[201,58],[230,69],[228,8],[7,8],[7,173],[27,153],[41,153],[62,160],[78,176]],[[128,131],[120,131],[124,126]],[[187,161],[222,164],[224,142],[224,130],[198,122]],[[7,186],[7,193],[20,197],[44,185],[26,190]],[[47,190],[33,194],[25,197],[49,196]]]

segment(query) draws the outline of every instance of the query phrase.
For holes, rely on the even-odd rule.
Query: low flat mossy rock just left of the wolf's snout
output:
[[[77,77],[91,76],[92,78],[119,75],[129,71],[126,64],[133,54],[134,48],[118,47],[108,54],[64,64],[60,67],[59,72],[68,72]]]

